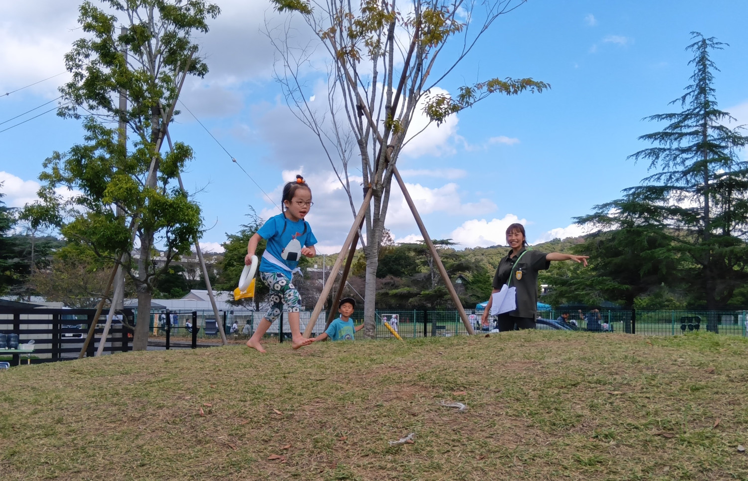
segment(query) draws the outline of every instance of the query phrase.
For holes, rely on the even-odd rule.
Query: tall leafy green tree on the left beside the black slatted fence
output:
[[[155,283],[174,257],[188,253],[202,226],[197,203],[176,183],[192,150],[176,142],[162,153],[162,145],[186,76],[208,71],[197,57],[194,34],[206,33],[207,19],[220,10],[204,0],[102,3],[116,15],[91,1],[79,8],[87,36],[65,56],[73,76],[60,88],[58,114],[85,119],[84,141],[46,159],[41,202],[29,206],[25,217],[120,261],[138,294],[133,349],[144,350]],[[120,93],[126,102],[117,100]],[[116,127],[120,121],[132,132],[129,142]],[[61,187],[73,195],[56,194]],[[159,268],[151,262],[157,244],[166,259]],[[131,257],[135,245],[138,254]]]

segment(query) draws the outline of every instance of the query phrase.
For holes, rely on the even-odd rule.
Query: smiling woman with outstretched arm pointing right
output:
[[[482,320],[485,323],[491,313],[491,304],[494,300],[493,293],[499,292],[503,285],[511,282],[509,286],[517,288],[517,307],[508,313],[499,314],[499,331],[534,329],[538,307],[538,272],[548,269],[552,260],[573,260],[586,266],[589,256],[575,256],[573,254],[560,254],[559,252],[544,254],[539,251],[531,251],[525,248],[527,239],[522,224],[512,224],[507,227],[506,242],[512,250],[506,257],[503,257],[496,269],[492,284],[494,290],[491,297],[488,298],[488,305],[485,306]]]

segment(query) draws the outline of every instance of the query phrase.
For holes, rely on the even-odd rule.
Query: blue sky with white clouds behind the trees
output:
[[[78,1],[3,2],[0,6],[0,95],[64,72],[76,30]],[[218,1],[223,13],[199,41],[211,68],[183,95],[232,156],[276,203],[284,180],[301,172],[313,189],[308,220],[321,251],[337,251],[352,223],[345,195],[306,127],[295,120],[272,80],[272,49],[263,18],[277,22],[266,1]],[[503,243],[519,219],[531,242],[580,233],[573,218],[646,176],[627,156],[647,147],[637,136],[654,131],[641,119],[675,110],[667,105],[688,85],[690,31],[730,46],[714,52],[720,107],[748,123],[748,2],[530,0],[501,17],[439,88],[491,77],[533,77],[551,84],[543,94],[492,96],[443,126],[429,128],[399,159],[426,227],[434,238],[462,247]],[[445,52],[447,55],[450,52]],[[309,73],[314,85],[322,73]],[[54,99],[67,74],[0,96],[0,130],[52,108],[5,122]],[[43,160],[81,140],[74,120],[54,112],[0,132],[4,200],[33,200]],[[171,135],[195,160],[184,174],[197,192],[215,248],[245,221],[248,204],[272,215],[272,204],[184,111]],[[355,162],[352,162],[355,164]],[[355,174],[355,172],[352,172]],[[394,195],[394,194],[393,194]],[[277,211],[275,211],[277,212]],[[394,195],[387,227],[396,240],[419,237]]]

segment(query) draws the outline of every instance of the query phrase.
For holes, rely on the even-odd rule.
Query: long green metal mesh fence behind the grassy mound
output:
[[[571,331],[614,332],[654,336],[678,336],[691,332],[712,331],[717,334],[748,335],[748,311],[703,311],[703,310],[565,310],[539,311],[542,319],[553,323],[539,325],[539,328],[556,328],[563,323]],[[468,311],[470,314],[470,311]],[[212,310],[198,311],[158,311],[153,312],[150,325],[150,342],[165,341],[169,328],[171,347],[189,347],[192,341],[192,328],[197,328],[198,346],[220,346],[221,335],[218,322],[224,326],[229,343],[245,343],[254,334],[264,311],[228,310],[221,311],[220,319],[215,319]],[[494,319],[488,326],[481,324],[481,312],[470,316],[476,333],[491,331],[496,327]],[[167,322],[167,317],[168,322]],[[311,311],[300,313],[301,331],[310,321]],[[364,310],[355,310],[351,318],[355,325],[364,322]],[[327,312],[320,313],[312,330],[313,336],[325,330]],[[450,337],[468,334],[457,310],[376,310],[376,337],[393,337],[384,322],[390,324],[400,337]],[[551,325],[554,324],[554,325]],[[559,327],[561,328],[561,327]],[[279,343],[291,338],[288,313],[283,313],[283,322],[274,322],[263,339],[266,343]],[[364,339],[364,330],[355,334],[356,339]]]

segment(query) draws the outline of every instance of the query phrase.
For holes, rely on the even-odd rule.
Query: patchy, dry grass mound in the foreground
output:
[[[227,346],[0,383],[2,480],[748,480],[741,337]]]

